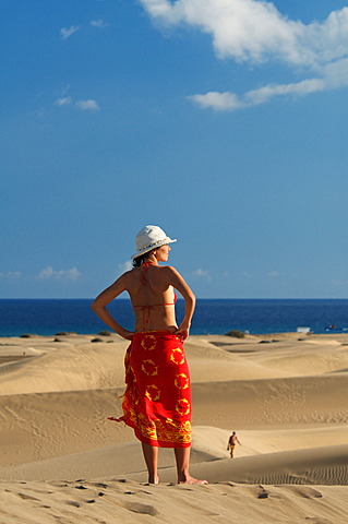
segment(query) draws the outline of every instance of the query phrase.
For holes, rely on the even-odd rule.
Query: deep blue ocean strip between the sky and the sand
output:
[[[95,334],[108,327],[91,310],[89,299],[2,299],[0,336],[24,333],[49,335],[65,331]],[[184,302],[177,302],[178,321]],[[109,307],[124,327],[134,323],[131,302],[117,299]],[[226,334],[238,330],[251,334],[348,331],[347,299],[199,299],[191,334]]]

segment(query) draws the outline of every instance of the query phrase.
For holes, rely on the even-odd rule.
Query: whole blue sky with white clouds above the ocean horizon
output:
[[[200,298],[346,298],[348,7],[1,0],[3,298],[89,298],[146,224]]]

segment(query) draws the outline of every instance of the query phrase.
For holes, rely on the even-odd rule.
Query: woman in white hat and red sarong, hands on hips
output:
[[[191,477],[191,385],[183,341],[189,335],[195,297],[182,276],[167,262],[176,242],[158,226],[145,226],[135,237],[133,270],[123,273],[93,302],[95,313],[120,336],[132,341],[125,355],[124,421],[142,442],[148,481],[158,484],[158,448],[173,448],[180,484],[207,484]],[[185,309],[177,325],[177,289]],[[122,327],[106,309],[128,291],[135,314],[135,331]]]

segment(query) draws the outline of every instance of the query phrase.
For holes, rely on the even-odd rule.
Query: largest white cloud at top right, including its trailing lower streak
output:
[[[212,36],[218,58],[262,66],[278,61],[299,68],[303,80],[233,92],[195,94],[201,107],[235,110],[264,104],[275,96],[304,96],[348,85],[348,8],[322,23],[304,24],[260,0],[140,0],[147,13],[166,26],[187,25]]]

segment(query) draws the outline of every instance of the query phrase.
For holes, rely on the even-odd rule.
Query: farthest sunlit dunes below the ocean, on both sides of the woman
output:
[[[59,343],[45,337],[3,338],[0,358],[7,361],[0,360],[0,395],[122,388],[128,343],[117,335],[101,337],[101,344],[92,344],[93,338],[70,335]],[[296,345],[291,340],[261,341],[252,337],[236,344],[227,336],[191,337],[185,350],[192,381],[260,380],[348,369],[348,346],[335,340],[310,338]]]

